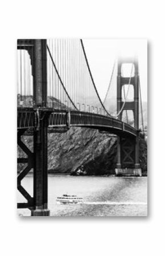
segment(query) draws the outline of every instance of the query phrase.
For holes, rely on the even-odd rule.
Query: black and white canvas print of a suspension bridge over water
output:
[[[16,51],[18,215],[147,216],[147,40]]]

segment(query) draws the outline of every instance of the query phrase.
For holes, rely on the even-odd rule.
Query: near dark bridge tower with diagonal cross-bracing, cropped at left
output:
[[[33,102],[35,128],[33,128],[33,152],[23,143],[21,136],[27,129],[18,131],[18,145],[27,158],[18,158],[18,163],[27,167],[18,175],[18,190],[26,198],[26,203],[18,203],[18,208],[28,208],[31,216],[49,216],[48,174],[47,174],[47,129],[51,111],[47,108],[47,42],[46,39],[18,39],[18,49],[27,50],[31,59],[33,76]],[[34,170],[33,196],[23,188],[21,181],[28,172]]]

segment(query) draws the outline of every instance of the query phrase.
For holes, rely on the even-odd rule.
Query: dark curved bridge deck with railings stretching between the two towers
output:
[[[110,116],[104,116],[96,113],[67,111],[65,109],[55,108],[18,108],[17,128],[34,129],[39,125],[39,119],[48,115],[48,128],[69,128],[85,127],[107,131],[120,136],[138,135],[138,130],[131,125],[126,124]]]

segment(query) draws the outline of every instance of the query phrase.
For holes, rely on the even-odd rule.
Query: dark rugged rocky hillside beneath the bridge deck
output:
[[[32,137],[24,136],[32,149]],[[19,157],[23,156],[18,149]],[[147,145],[141,140],[141,168],[147,172]],[[48,170],[50,173],[72,173],[82,164],[87,174],[114,174],[117,161],[117,139],[109,133],[72,127],[66,133],[48,135]],[[18,166],[18,170],[22,166]]]

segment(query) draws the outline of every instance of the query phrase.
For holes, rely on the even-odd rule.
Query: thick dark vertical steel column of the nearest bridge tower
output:
[[[50,216],[48,210],[47,174],[47,44],[45,39],[34,40],[34,102],[38,127],[34,131],[34,209],[31,216]]]

